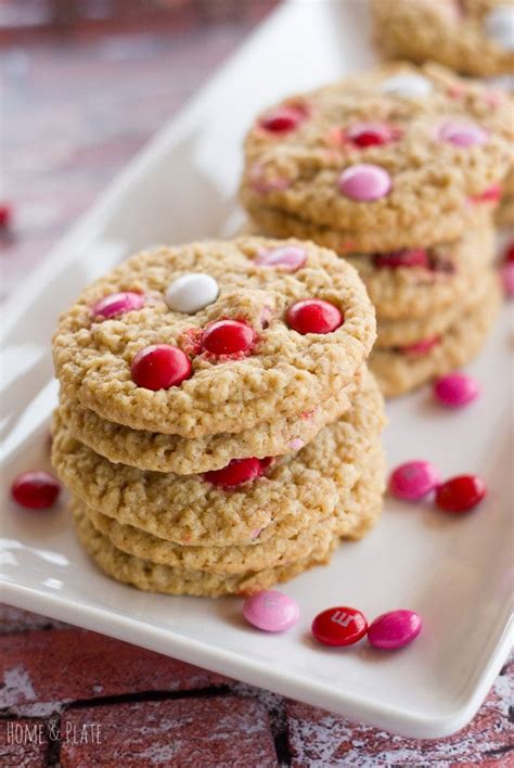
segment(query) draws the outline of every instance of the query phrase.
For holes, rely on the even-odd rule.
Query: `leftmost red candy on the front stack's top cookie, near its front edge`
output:
[[[132,381],[144,389],[169,389],[191,375],[189,357],[169,344],[153,344],[143,347],[130,366]]]

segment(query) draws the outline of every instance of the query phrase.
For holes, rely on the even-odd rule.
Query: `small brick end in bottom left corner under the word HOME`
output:
[[[0,720],[0,766],[42,768],[47,765],[49,740],[44,720]]]

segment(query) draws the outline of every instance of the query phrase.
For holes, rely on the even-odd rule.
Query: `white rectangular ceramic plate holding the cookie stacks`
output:
[[[4,489],[18,472],[48,464],[57,389],[49,340],[59,310],[140,246],[235,232],[244,218],[234,203],[241,141],[253,116],[285,93],[372,63],[368,38],[364,2],[286,3],[27,278],[3,318]],[[451,733],[478,708],[512,637],[512,347],[504,310],[470,367],[484,395],[465,412],[442,412],[426,389],[388,406],[390,465],[425,458],[444,476],[479,472],[487,500],[462,519],[387,500],[362,542],[283,586],[301,617],[282,636],[245,626],[236,599],[166,598],[111,581],[76,543],[65,503],[33,513],[7,492],[2,599],[406,735]],[[342,603],[370,618],[413,609],[425,628],[398,654],[314,645],[312,617]]]

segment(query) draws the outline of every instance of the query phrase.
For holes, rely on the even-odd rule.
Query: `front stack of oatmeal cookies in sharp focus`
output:
[[[60,320],[52,459],[114,578],[254,592],[377,519],[383,400],[357,271],[296,240],[140,253]]]

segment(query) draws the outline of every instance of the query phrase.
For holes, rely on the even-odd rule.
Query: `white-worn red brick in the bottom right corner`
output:
[[[514,656],[475,719],[447,739],[420,741],[286,702],[292,766],[514,766],[512,676]]]

